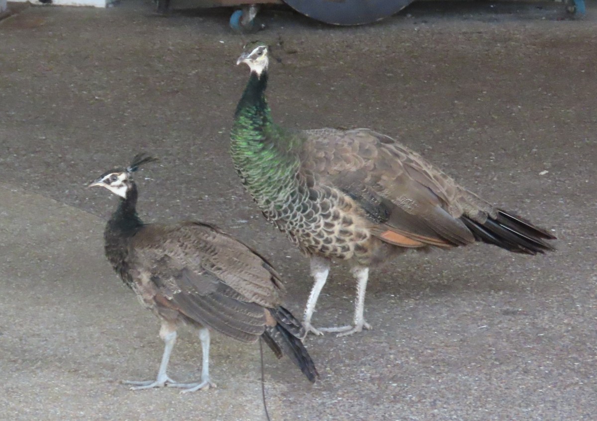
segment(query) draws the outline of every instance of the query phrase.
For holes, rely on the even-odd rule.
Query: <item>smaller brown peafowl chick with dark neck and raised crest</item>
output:
[[[159,336],[165,347],[158,377],[125,383],[133,389],[170,386],[183,392],[213,386],[209,375],[210,330],[242,342],[263,338],[278,358],[288,355],[307,379],[315,382],[315,364],[299,339],[304,329],[281,306],[284,287],[267,261],[213,225],[141,222],[132,174],[153,160],[139,154],[127,168],[107,171],[90,183],[90,187],[105,187],[120,197],[104,231],[106,257],[162,322]],[[197,383],[175,382],[167,375],[180,324],[199,330],[203,355],[201,381]]]

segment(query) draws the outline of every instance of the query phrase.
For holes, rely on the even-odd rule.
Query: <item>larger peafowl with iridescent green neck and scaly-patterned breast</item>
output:
[[[304,312],[308,332],[350,335],[364,318],[369,267],[408,249],[474,242],[535,255],[555,237],[494,208],[416,152],[370,129],[291,131],[267,105],[268,47],[245,46],[236,64],[250,76],[230,133],[233,163],[263,215],[310,257],[315,284]],[[357,281],[352,326],[315,329],[311,318],[330,259],[352,263]]]

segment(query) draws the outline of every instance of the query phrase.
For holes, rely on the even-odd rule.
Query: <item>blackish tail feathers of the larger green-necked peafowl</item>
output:
[[[526,219],[501,209],[497,211],[497,218],[487,218],[483,224],[468,216],[460,219],[477,241],[494,244],[510,252],[536,255],[555,250],[544,240],[555,240],[556,237]]]

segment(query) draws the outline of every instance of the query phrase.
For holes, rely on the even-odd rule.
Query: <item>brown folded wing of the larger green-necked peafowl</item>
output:
[[[460,216],[492,212],[488,203],[390,137],[368,129],[306,133],[303,168],[358,202],[374,222],[373,234],[386,242],[469,244],[475,237]]]

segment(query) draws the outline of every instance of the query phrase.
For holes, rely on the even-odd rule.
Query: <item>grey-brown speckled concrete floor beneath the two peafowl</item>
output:
[[[265,355],[273,420],[592,420],[597,384],[597,8],[415,5],[364,27],[261,15],[279,123],[370,127],[558,235],[534,258],[482,244],[409,255],[371,276],[374,330],[309,338],[321,380]],[[229,11],[30,7],[0,22],[0,419],[262,420],[257,345],[214,335],[219,388],[129,391],[155,376],[158,323],[103,257],[116,199],[84,185],[138,151],[146,221],[195,218],[253,244],[300,315],[308,264],[233,172],[228,131],[246,67]],[[333,270],[315,323],[344,323]],[[181,332],[171,375],[199,377]]]

